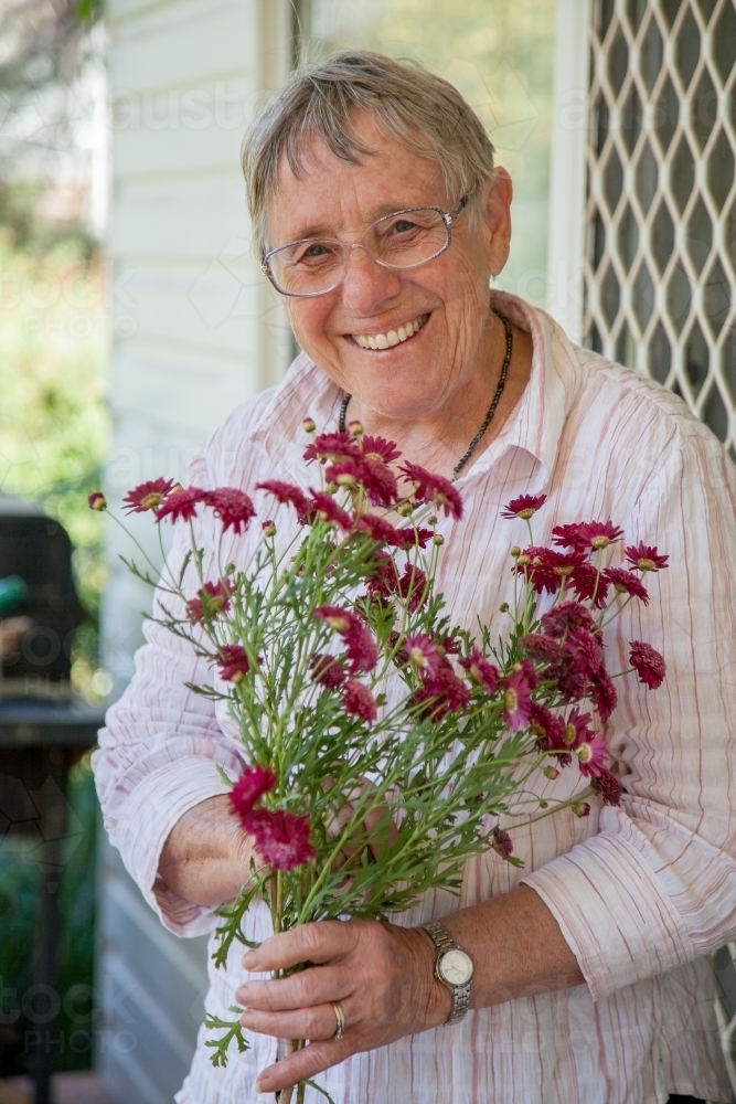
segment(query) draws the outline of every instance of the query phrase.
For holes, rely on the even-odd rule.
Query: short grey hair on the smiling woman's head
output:
[[[454,203],[493,176],[493,145],[483,124],[448,81],[416,62],[342,50],[296,70],[245,137],[243,172],[259,253],[268,247],[266,208],[284,155],[298,177],[313,137],[349,163],[375,152],[355,136],[354,112],[365,112],[388,137],[437,162]]]

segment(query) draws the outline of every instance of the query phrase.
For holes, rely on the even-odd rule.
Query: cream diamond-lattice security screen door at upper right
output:
[[[736,460],[736,0],[594,0],[586,344]]]

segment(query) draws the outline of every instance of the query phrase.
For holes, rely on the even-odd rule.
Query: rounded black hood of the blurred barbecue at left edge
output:
[[[71,694],[72,644],[86,619],[74,588],[72,551],[65,530],[40,506],[0,495],[0,580],[23,580],[28,593],[12,614],[33,622],[19,650],[0,664],[0,698]]]

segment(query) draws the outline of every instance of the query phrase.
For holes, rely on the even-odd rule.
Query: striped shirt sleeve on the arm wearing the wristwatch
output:
[[[610,669],[623,670],[627,641],[650,643],[666,679],[654,691],[633,675],[618,681],[607,737],[622,804],[523,879],[596,999],[736,936],[736,473],[692,423],[649,463],[627,537],[670,564],[647,576],[650,605],[629,606],[607,644]]]

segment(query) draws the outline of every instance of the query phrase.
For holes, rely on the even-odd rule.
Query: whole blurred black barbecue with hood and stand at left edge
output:
[[[28,617],[31,628],[0,664],[0,836],[34,837],[38,845],[32,975],[36,990],[50,995],[51,1010],[41,1015],[35,1030],[24,1032],[23,1053],[32,1065],[36,1104],[50,1104],[60,1038],[53,994],[58,988],[67,775],[94,744],[104,712],[76,698],[70,681],[74,635],[86,616],[74,588],[72,543],[40,507],[0,495],[0,578],[9,575],[28,587],[12,614]],[[8,1045],[12,1050],[12,1041],[0,1038],[0,1058]]]

